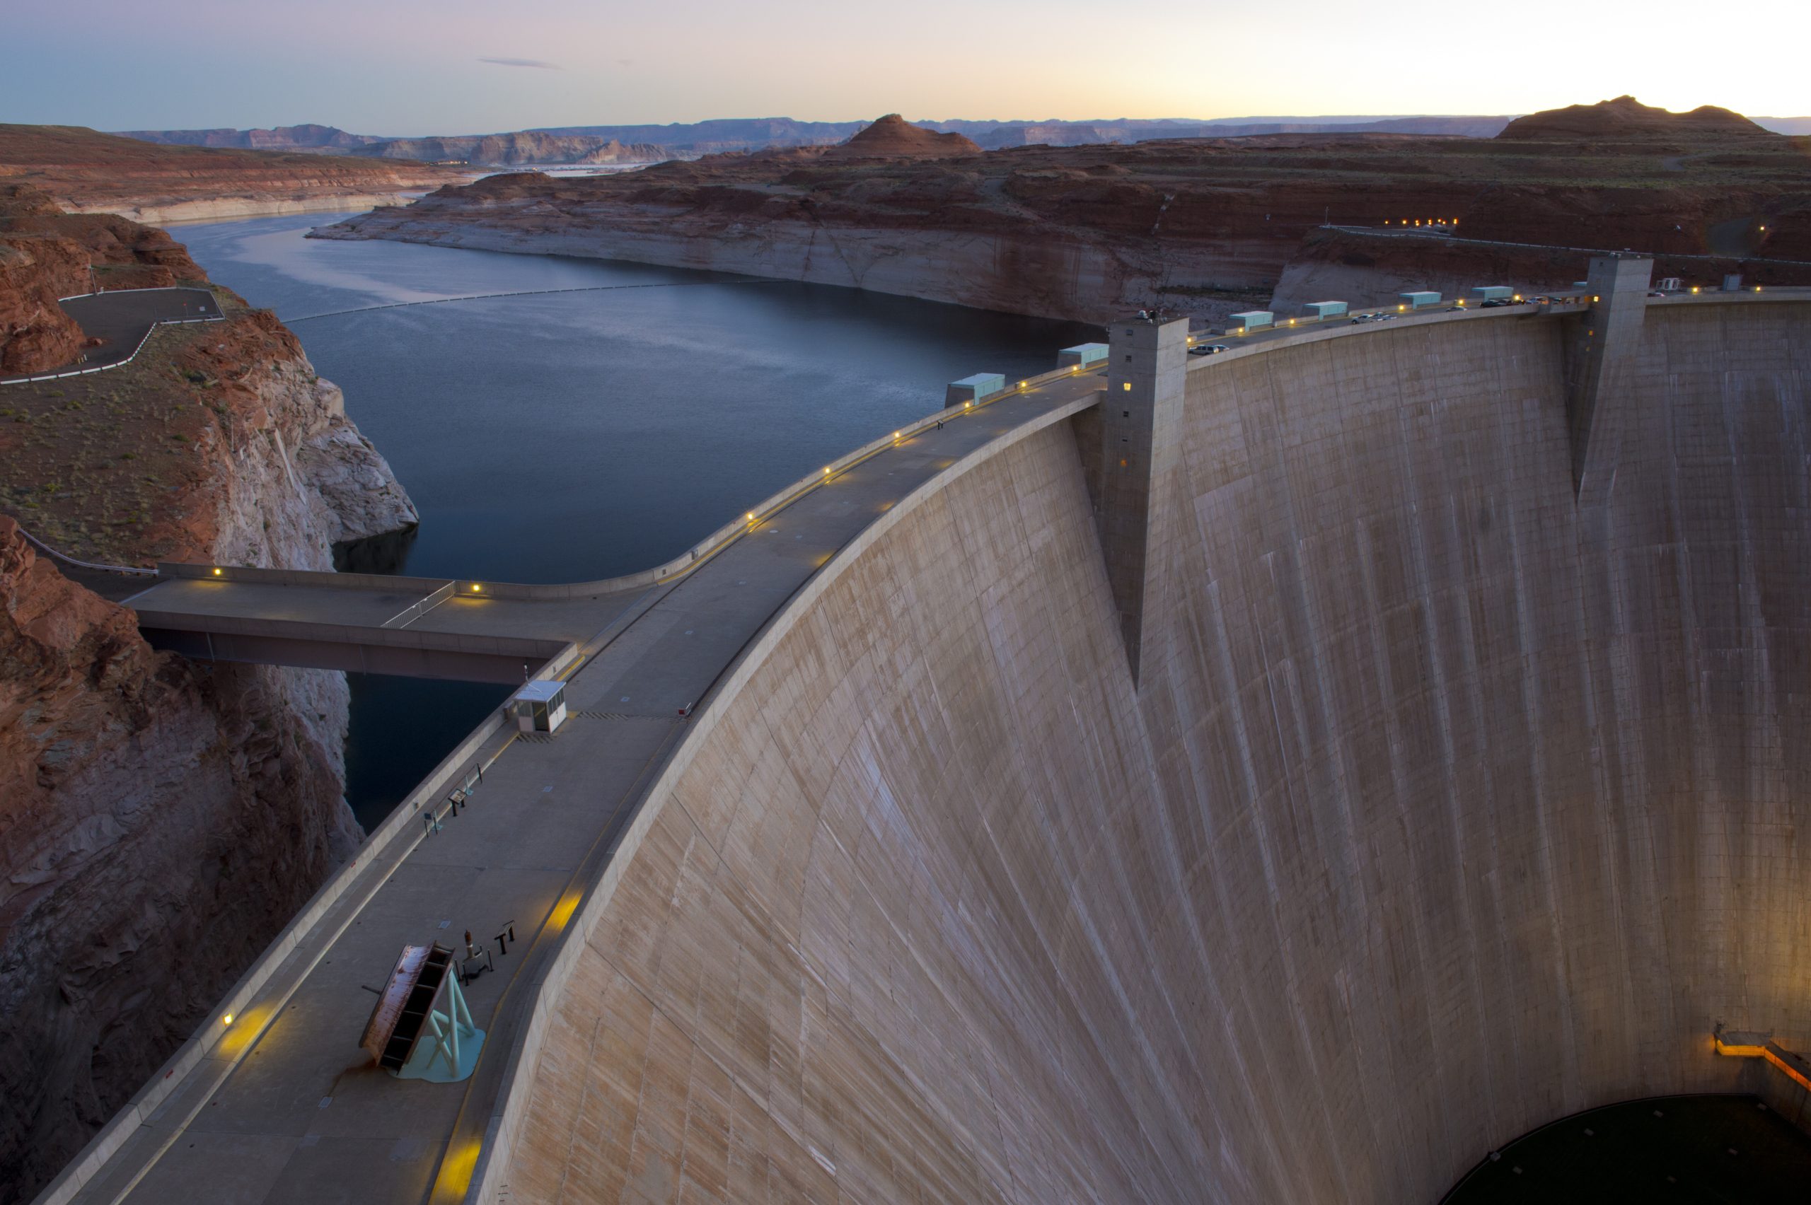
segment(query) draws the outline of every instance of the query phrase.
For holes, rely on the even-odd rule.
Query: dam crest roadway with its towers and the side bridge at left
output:
[[[1608,280],[1619,268],[1606,262]],[[1621,262],[1626,271],[1628,261]],[[1646,308],[1644,286],[1643,273],[1639,293],[1628,288],[1614,300]],[[1653,308],[1720,313],[1806,302],[1811,291],[1780,289],[1668,299]],[[1088,572],[1110,592],[1123,639],[1116,655],[1143,693],[1157,673],[1150,631],[1168,606],[1157,555],[1168,528],[1152,521],[1146,530],[1145,516],[1132,516],[1126,499],[1143,508],[1163,485],[1166,458],[1181,454],[1184,443],[1179,429],[1164,423],[1181,422],[1184,394],[1199,382],[1311,344],[1411,355],[1431,347],[1425,340],[1438,331],[1518,324],[1567,327],[1563,337],[1543,338],[1601,338],[1597,326],[1579,327],[1590,318],[1585,309],[1563,315],[1521,304],[1413,313],[1382,326],[1279,329],[1242,337],[1228,353],[1204,358],[1188,358],[1175,331],[1152,326],[1146,337],[1130,322],[1114,324],[1114,362],[1105,373],[1049,373],[980,405],[933,414],[833,461],[668,565],[623,579],[522,586],[159,566],[158,583],[129,606],[161,648],[223,660],[493,682],[522,682],[527,671],[565,682],[570,718],[551,738],[522,738],[500,715],[473,733],[371,832],[217,1015],[40,1201],[551,1200],[543,1192],[547,1120],[531,1096],[560,1091],[547,1078],[558,1078],[558,1060],[567,1057],[558,1046],[560,997],[587,973],[587,934],[628,874],[625,865],[652,850],[645,841],[656,820],[643,803],[688,758],[710,756],[701,740],[715,724],[714,700],[728,698],[761,669],[788,624],[829,622],[813,619],[810,606],[837,574],[867,572],[864,554],[909,516],[953,505],[953,487],[965,478],[974,485],[980,470],[1029,472],[1016,467],[1016,456],[1054,454],[1070,465],[1079,458],[1099,541]],[[1630,309],[1612,313],[1612,302],[1601,302],[1599,313],[1606,335],[1639,338],[1639,311],[1632,318]],[[1590,378],[1567,384],[1568,398],[1577,400],[1567,465],[1574,490],[1563,499],[1570,510],[1601,505],[1617,470],[1617,447],[1626,447],[1619,425],[1630,416],[1615,400],[1619,375],[1628,371],[1626,347],[1583,346],[1567,355],[1572,375]],[[1141,400],[1125,402],[1123,422],[1105,414],[1121,405],[1121,394]],[[1056,452],[1052,441],[1059,443]],[[1067,447],[1076,451],[1063,452]],[[1143,483],[1128,492],[1112,476],[1116,463],[1141,472]],[[1030,508],[1041,496],[1027,489],[1025,498],[1000,494],[989,505],[1016,507],[1032,525]],[[963,519],[956,514],[951,521]],[[911,583],[893,584],[911,592]],[[484,780],[471,805],[440,825],[424,825],[422,816],[435,814],[473,767],[484,769]],[[757,847],[777,841],[779,850],[784,836],[752,840]],[[360,988],[380,982],[406,943],[433,937],[455,944],[464,930],[491,943],[511,923],[518,941],[496,957],[496,973],[465,988],[487,1031],[474,1075],[464,1084],[427,1086],[371,1067],[357,1048],[371,1010]],[[697,1006],[714,1008],[708,1001]],[[788,1142],[815,1162],[815,1171],[808,1165],[788,1176],[815,1178],[815,1187],[784,1180],[790,1187],[775,1187],[775,1196],[833,1191],[838,1156],[815,1145],[810,1125]],[[1474,1156],[1467,1149],[1454,1158],[1469,1163]],[[541,1171],[531,1172],[531,1165]],[[636,1167],[645,1171],[639,1162]],[[781,1185],[773,1167],[768,1183]],[[1179,1165],[1174,1174],[1188,1172]],[[918,1180],[934,1176],[924,1171]],[[978,1181],[953,1176],[940,1183],[998,1183],[992,1172]],[[1154,1183],[1148,1198],[1172,1200],[1174,1187]]]

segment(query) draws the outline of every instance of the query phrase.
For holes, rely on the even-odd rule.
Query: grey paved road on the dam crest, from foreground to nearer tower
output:
[[[493,738],[478,754],[487,769],[474,805],[431,838],[417,841],[411,825],[409,840],[378,852],[76,1200],[458,1200],[469,1160],[444,1156],[476,1151],[534,1004],[532,984],[683,735],[681,709],[889,505],[963,454],[1099,389],[1097,375],[1065,376],[911,434],[639,595],[614,630],[590,637],[567,686],[565,729]],[[509,921],[522,941],[498,959],[498,973],[467,990],[489,1033],[473,1078],[436,1086],[371,1069],[357,1048],[375,999],[362,984],[382,982],[406,943],[458,944],[467,928],[489,943]]]

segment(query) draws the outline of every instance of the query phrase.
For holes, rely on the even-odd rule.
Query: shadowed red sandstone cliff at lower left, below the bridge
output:
[[[0,1201],[56,1174],[355,845],[273,677],[152,653],[0,516]]]

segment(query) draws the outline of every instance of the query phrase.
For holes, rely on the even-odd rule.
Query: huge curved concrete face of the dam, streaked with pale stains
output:
[[[485,1183],[1433,1201],[1802,1042],[1811,306],[1650,311],[1585,508],[1563,338],[1193,365],[1137,689],[1068,422],[882,516],[656,785]]]

